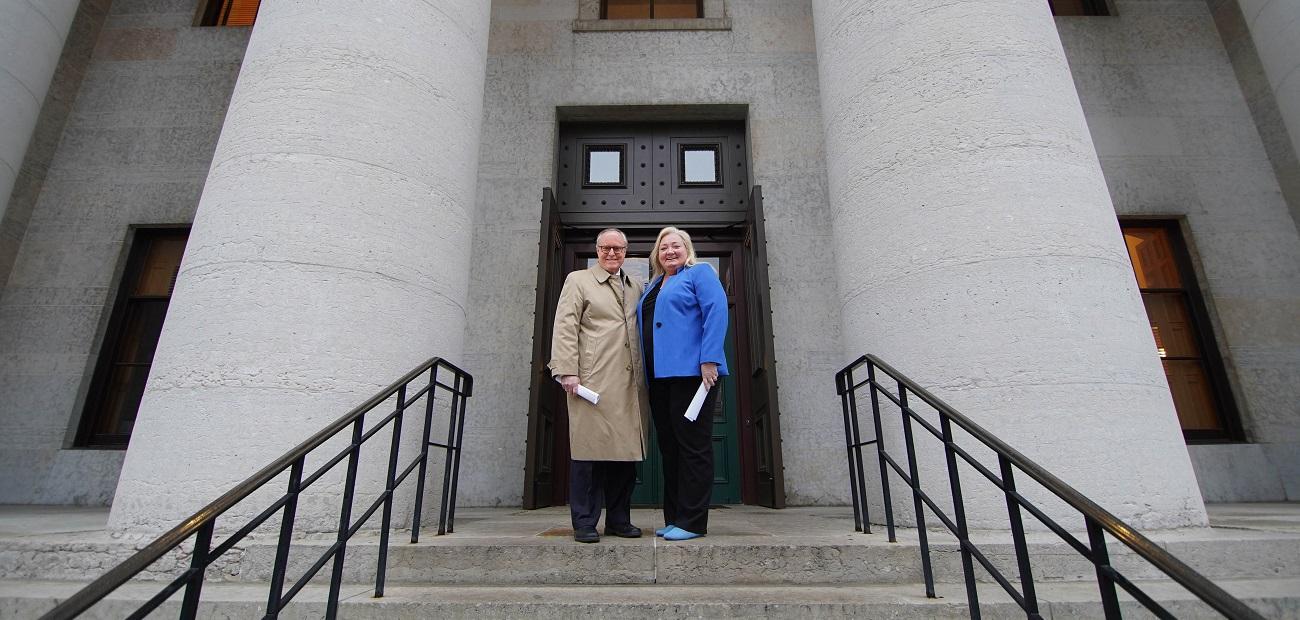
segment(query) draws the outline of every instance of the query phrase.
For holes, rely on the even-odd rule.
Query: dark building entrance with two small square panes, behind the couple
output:
[[[645,282],[650,247],[668,225],[692,234],[728,295],[732,373],[714,417],[714,502],[784,506],[762,192],[749,186],[744,142],[738,122],[562,126],[558,187],[543,191],[524,507],[568,500],[566,402],[546,368],[564,276],[595,259],[597,231],[618,226],[628,234],[624,268]],[[640,506],[663,494],[650,437],[633,497]]]

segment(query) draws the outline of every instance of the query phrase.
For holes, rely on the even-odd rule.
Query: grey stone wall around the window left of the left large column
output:
[[[192,27],[194,12],[116,0],[64,95],[72,109],[0,296],[0,503],[112,500],[124,452],[72,439],[129,226],[194,217],[250,31]]]

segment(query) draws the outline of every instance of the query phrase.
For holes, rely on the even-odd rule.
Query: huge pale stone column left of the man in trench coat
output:
[[[489,8],[263,4],[112,528],[172,526],[426,357],[460,356]],[[300,528],[337,525],[329,495]]]

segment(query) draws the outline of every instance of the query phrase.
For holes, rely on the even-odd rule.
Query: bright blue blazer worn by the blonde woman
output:
[[[698,377],[699,364],[718,364],[727,374],[727,291],[707,263],[685,265],[668,278],[655,300],[654,316],[644,317],[646,295],[659,286],[659,276],[646,285],[637,303],[641,342],[645,330],[654,329],[654,377]],[[644,355],[644,354],[642,354]]]

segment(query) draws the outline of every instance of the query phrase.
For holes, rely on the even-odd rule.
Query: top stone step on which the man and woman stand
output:
[[[897,543],[883,529],[852,532],[846,508],[788,508],[784,511],[727,511],[710,536],[664,542],[603,538],[576,543],[563,526],[560,511],[465,510],[458,530],[425,534],[411,545],[402,533],[389,551],[390,584],[417,585],[835,585],[920,582],[915,530],[900,530]],[[719,511],[724,512],[724,511]],[[749,516],[749,517],[746,517]],[[848,519],[841,519],[848,516]],[[653,523],[645,517],[641,523]],[[800,526],[798,524],[802,524]],[[649,534],[649,532],[647,532]],[[1300,577],[1300,533],[1200,528],[1152,534],[1158,543],[1212,580]],[[940,582],[961,582],[961,556],[945,533],[930,534],[933,568]],[[979,532],[976,545],[1009,577],[1015,578],[1015,555],[1005,532]],[[105,572],[146,541],[127,541],[103,532],[0,538],[0,578],[82,581]],[[294,545],[294,578],[333,542],[306,537]],[[344,580],[373,582],[377,537],[361,534],[348,543]],[[1037,581],[1092,581],[1092,565],[1050,534],[1031,534]],[[257,582],[270,576],[274,546],[265,538],[231,551],[211,569],[216,581]],[[1115,543],[1112,558],[1130,578],[1162,578],[1154,568]],[[183,552],[160,560],[139,578],[160,580],[187,565]],[[978,578],[991,577],[978,568]]]

